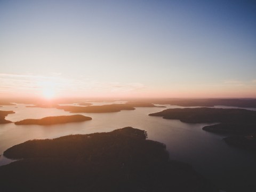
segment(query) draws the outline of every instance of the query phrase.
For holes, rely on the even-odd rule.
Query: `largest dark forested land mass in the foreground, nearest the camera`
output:
[[[132,127],[30,140],[4,151],[21,159],[0,167],[3,191],[218,191],[163,143]]]

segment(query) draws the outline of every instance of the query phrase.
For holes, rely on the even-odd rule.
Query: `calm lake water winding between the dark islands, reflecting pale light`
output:
[[[119,102],[119,101],[118,101]],[[122,102],[120,102],[122,103]],[[99,103],[93,103],[98,104]],[[107,103],[100,103],[101,105]],[[109,102],[108,102],[109,104]],[[15,114],[6,117],[10,121],[46,116],[70,115],[59,109],[29,108],[28,105],[4,106],[0,110],[13,110]],[[231,108],[217,106],[219,108]],[[167,108],[183,108],[167,106]],[[251,151],[230,147],[222,140],[223,135],[205,132],[202,127],[210,124],[189,124],[179,120],[148,116],[166,108],[136,108],[117,113],[83,113],[91,121],[61,125],[15,125],[0,124],[0,155],[4,150],[30,139],[57,138],[69,134],[108,132],[125,126],[132,126],[148,132],[148,139],[166,144],[170,158],[189,163],[199,173],[210,179],[221,189],[228,187],[237,191],[256,183],[256,154]],[[255,108],[252,110],[256,110]],[[81,114],[81,113],[80,113]],[[1,155],[0,165],[10,160]],[[243,185],[239,183],[243,183]]]

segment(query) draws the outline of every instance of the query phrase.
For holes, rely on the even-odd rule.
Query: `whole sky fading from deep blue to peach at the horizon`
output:
[[[255,1],[0,0],[0,97],[256,98]]]

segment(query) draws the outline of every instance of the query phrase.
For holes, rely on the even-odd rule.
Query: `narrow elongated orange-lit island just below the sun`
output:
[[[44,117],[41,119],[24,119],[22,121],[15,122],[16,125],[54,125],[71,122],[83,122],[91,120],[91,117],[83,115],[69,115],[69,116],[53,116]]]

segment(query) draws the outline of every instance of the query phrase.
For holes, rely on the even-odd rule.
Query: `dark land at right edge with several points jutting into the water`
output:
[[[185,123],[218,123],[204,126],[203,130],[232,134],[224,140],[234,147],[256,149],[256,111],[245,109],[185,108],[166,109],[150,116],[180,119]]]

